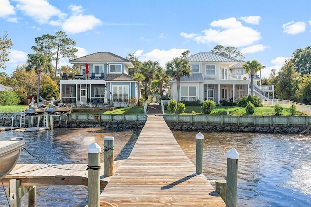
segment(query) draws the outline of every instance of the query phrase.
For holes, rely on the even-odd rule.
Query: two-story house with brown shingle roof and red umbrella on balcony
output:
[[[62,103],[83,103],[102,100],[102,105],[128,102],[138,96],[138,83],[128,75],[134,68],[131,61],[110,52],[97,52],[69,63],[80,68],[79,74],[63,74],[60,80]],[[104,103],[103,103],[104,102]],[[99,103],[99,102],[97,102]]]

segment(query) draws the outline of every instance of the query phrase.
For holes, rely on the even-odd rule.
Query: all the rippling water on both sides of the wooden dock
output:
[[[197,132],[173,132],[185,154],[195,163]],[[223,179],[226,153],[233,147],[238,161],[238,206],[309,207],[311,206],[311,136],[249,133],[203,133],[203,171],[214,183]],[[102,129],[54,129],[39,132],[0,132],[0,140],[22,136],[25,147],[50,164],[66,164],[87,158],[88,146],[103,146],[104,136],[115,137],[116,160],[126,159],[139,132],[109,132]],[[101,160],[103,161],[103,160]],[[18,163],[40,162],[23,151]],[[81,163],[87,163],[83,161]],[[86,186],[37,186],[37,207],[84,207]],[[27,196],[22,199],[26,207]],[[8,207],[2,187],[0,206]]]

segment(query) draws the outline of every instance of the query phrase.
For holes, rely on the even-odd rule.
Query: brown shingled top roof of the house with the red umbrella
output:
[[[96,52],[80,58],[70,60],[69,63],[86,62],[130,62],[129,60],[115,55],[111,52]]]

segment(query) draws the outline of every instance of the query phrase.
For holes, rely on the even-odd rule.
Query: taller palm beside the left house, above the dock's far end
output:
[[[163,68],[160,66],[159,62],[157,61],[148,60],[142,64],[142,67],[140,68],[140,72],[143,71],[143,75],[148,79],[148,85],[149,85],[148,96],[150,95],[152,80],[158,79],[159,74],[161,73],[162,70]]]

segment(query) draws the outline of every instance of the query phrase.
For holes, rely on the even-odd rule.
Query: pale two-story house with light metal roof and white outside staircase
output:
[[[250,75],[243,69],[245,62],[234,60],[215,53],[197,53],[187,58],[191,66],[191,76],[180,80],[180,97],[183,101],[221,100],[237,101],[250,94]],[[273,93],[273,87],[257,85],[259,76],[254,76],[255,96],[264,98]],[[177,100],[176,80],[167,84],[171,99]]]

